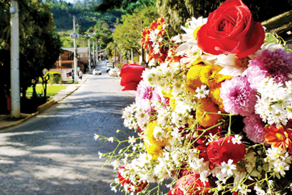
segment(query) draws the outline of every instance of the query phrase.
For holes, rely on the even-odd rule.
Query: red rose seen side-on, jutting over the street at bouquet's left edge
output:
[[[137,64],[125,64],[122,65],[120,69],[120,85],[122,85],[122,90],[136,90],[137,85],[142,80],[141,75],[145,67]]]

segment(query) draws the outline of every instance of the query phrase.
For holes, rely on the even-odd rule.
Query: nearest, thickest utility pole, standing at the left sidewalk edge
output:
[[[20,118],[19,2],[11,0],[11,118]]]

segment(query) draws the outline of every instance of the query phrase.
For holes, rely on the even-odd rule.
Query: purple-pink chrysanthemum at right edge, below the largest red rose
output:
[[[251,60],[247,69],[247,78],[252,88],[264,78],[270,77],[276,83],[284,83],[291,80],[292,53],[286,53],[282,49],[275,51],[264,50],[259,56]]]

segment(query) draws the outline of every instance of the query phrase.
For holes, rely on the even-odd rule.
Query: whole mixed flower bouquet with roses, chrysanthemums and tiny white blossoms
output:
[[[292,54],[241,0],[189,19],[170,38],[163,19],[142,33],[149,66],[124,65],[137,90],[124,125],[137,137],[100,153],[125,194],[292,194]],[[122,163],[122,164],[120,164]],[[157,183],[157,187],[150,187]],[[153,193],[154,192],[154,193]]]

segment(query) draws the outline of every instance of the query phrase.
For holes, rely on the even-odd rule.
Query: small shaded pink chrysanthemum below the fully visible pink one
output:
[[[265,124],[259,115],[253,114],[244,118],[244,132],[251,141],[263,143],[265,141]]]

